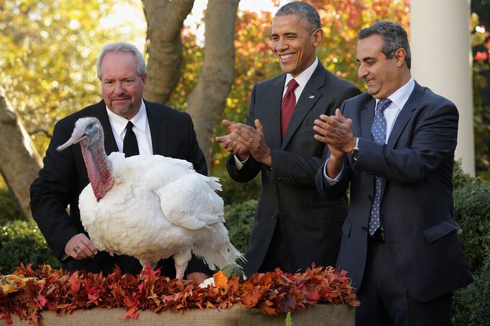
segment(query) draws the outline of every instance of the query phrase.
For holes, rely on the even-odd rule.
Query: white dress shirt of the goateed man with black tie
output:
[[[107,115],[109,115],[109,122],[111,123],[112,133],[114,135],[115,143],[118,145],[118,150],[122,152],[122,145],[124,143],[124,136],[126,135],[126,125],[128,120],[116,115],[106,106]],[[131,118],[133,122],[133,132],[135,132],[138,142],[138,150],[140,154],[153,155],[153,145],[151,144],[150,125],[148,124],[148,117],[146,115],[146,106],[142,100],[140,110]]]

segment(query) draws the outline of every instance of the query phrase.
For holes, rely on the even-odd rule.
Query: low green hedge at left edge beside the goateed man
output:
[[[21,263],[24,265],[49,264],[60,268],[60,263],[47,247],[36,222],[10,221],[0,226],[0,274],[14,271]]]

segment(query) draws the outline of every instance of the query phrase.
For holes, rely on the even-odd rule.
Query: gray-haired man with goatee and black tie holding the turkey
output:
[[[47,244],[67,270],[102,271],[107,275],[118,265],[123,273],[137,275],[142,269],[137,259],[100,252],[90,241],[80,222],[78,209],[78,196],[89,183],[80,146],[71,146],[61,152],[56,148],[69,139],[78,119],[97,117],[104,128],[107,154],[122,152],[127,130],[131,130],[140,154],[183,159],[192,163],[201,174],[207,174],[207,167],[190,115],[143,100],[146,65],[134,45],[124,42],[106,45],[98,58],[97,70],[103,100],[65,117],[54,126],[44,167],[31,185],[32,215]],[[129,129],[126,129],[128,125]],[[159,267],[164,275],[175,277],[172,258],[161,261]],[[199,282],[211,272],[195,257],[187,271],[188,279]]]

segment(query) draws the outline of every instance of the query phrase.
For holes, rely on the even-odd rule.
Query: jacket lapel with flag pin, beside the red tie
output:
[[[289,121],[289,126],[287,126],[286,135],[282,140],[280,147],[281,150],[286,148],[287,144],[300,126],[301,121],[303,121],[309,110],[313,108],[313,105],[315,105],[318,99],[322,96],[322,93],[320,93],[318,89],[325,84],[325,74],[326,70],[319,61],[315,71],[313,71],[313,75],[311,75],[311,78],[304,86],[298,102],[296,102],[296,107],[294,108],[293,115]],[[313,128],[313,126],[311,126],[311,128]]]

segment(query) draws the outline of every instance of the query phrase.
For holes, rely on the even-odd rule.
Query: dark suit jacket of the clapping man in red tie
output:
[[[342,102],[359,94],[356,86],[327,71],[320,62],[304,87],[293,111],[285,139],[281,141],[280,106],[286,74],[254,86],[247,124],[260,119],[265,142],[271,149],[272,166],[249,157],[237,170],[233,157],[227,161],[230,176],[238,182],[252,180],[259,172],[262,189],[247,248],[245,273],[260,268],[280,218],[291,270],[335,264],[347,213],[346,196],[323,200],[315,188],[315,173],[326,146],[313,138],[313,121],[321,114],[333,115]]]

